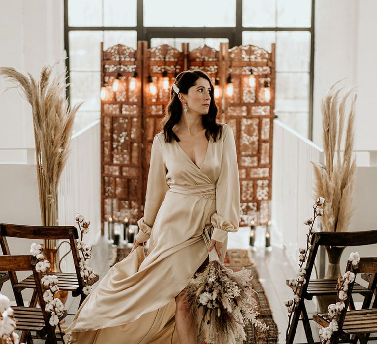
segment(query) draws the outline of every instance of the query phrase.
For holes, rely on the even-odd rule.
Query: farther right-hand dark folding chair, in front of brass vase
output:
[[[292,344],[297,330],[298,322],[303,323],[307,343],[313,344],[314,339],[310,328],[309,316],[305,307],[305,299],[312,300],[313,296],[319,295],[336,295],[337,280],[316,280],[310,279],[313,271],[314,262],[320,246],[361,246],[372,245],[377,243],[377,230],[357,231],[357,232],[319,232],[314,233],[312,237],[312,246],[307,258],[305,270],[305,283],[299,290],[298,296],[300,301],[297,303],[293,311],[290,327],[286,337],[286,343]],[[288,284],[288,281],[287,281]],[[360,284],[355,284],[353,293],[358,293],[364,296],[364,307],[369,307],[373,297],[374,290],[365,288]],[[350,307],[354,309],[353,300],[350,300]],[[301,319],[300,319],[301,317]]]

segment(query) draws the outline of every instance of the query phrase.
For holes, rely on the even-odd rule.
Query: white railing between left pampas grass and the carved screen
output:
[[[94,244],[101,235],[100,121],[72,136],[71,153],[59,182],[59,225],[76,225],[76,213],[90,220],[85,243]],[[64,250],[63,250],[64,251]]]

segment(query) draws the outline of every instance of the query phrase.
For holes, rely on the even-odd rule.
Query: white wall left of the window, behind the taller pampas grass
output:
[[[0,0],[0,66],[38,78],[64,55],[63,0]],[[10,84],[0,80],[0,93]],[[34,147],[30,105],[16,90],[0,95],[0,147]],[[9,160],[9,159],[6,159]]]

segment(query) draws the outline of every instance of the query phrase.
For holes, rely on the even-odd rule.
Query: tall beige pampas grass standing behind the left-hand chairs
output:
[[[59,62],[59,61],[58,61]],[[1,67],[0,76],[14,83],[30,104],[34,123],[39,203],[43,226],[56,225],[57,188],[69,155],[75,115],[66,98],[66,70],[53,76],[53,66],[44,66],[40,80],[15,68]],[[54,240],[45,240],[45,248],[54,248]]]

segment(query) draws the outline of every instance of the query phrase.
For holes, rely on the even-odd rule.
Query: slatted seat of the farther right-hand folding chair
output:
[[[287,285],[288,280],[286,280]],[[309,281],[308,288],[306,290],[305,299],[312,300],[313,296],[320,295],[336,295],[336,285],[338,280],[335,279],[323,279],[323,280],[311,280]],[[292,287],[292,289],[295,287]],[[371,290],[361,286],[358,283],[355,283],[353,287],[354,294],[361,294],[363,296],[371,294]]]

